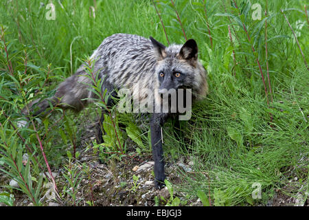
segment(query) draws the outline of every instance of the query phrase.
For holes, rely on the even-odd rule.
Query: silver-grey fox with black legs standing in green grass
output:
[[[137,87],[139,90],[152,91],[154,109],[162,106],[163,95],[170,89],[176,89],[176,94],[177,89],[190,89],[192,102],[201,100],[208,94],[207,71],[201,61],[198,61],[198,46],[194,39],[187,40],[183,45],[172,44],[165,47],[152,36],[146,39],[135,34],[113,34],[102,41],[90,59],[95,60],[91,68],[98,74],[98,78],[102,79],[102,94],[106,91],[105,96],[108,95],[108,107],[113,107],[113,97],[117,97],[117,91],[122,88],[132,91],[131,98],[138,103],[149,100],[144,94],[134,92]],[[29,109],[34,116],[44,115],[50,106],[56,105],[62,109],[81,111],[96,97],[89,89],[93,82],[87,77],[86,68],[87,64],[83,63],[73,76],[58,85],[52,98],[34,100],[22,113],[26,115]],[[171,102],[171,97],[169,98],[168,104]],[[104,113],[106,109],[102,108],[98,123],[99,143],[103,142]],[[161,129],[168,118],[175,114],[179,112],[171,113],[170,108],[168,111],[150,113],[152,157],[155,162],[154,183],[157,189],[165,186]]]

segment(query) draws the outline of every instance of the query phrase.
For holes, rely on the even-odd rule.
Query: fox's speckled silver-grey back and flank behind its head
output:
[[[155,81],[155,52],[149,39],[132,34],[108,36],[91,56],[95,71],[108,83],[121,88],[152,89]]]

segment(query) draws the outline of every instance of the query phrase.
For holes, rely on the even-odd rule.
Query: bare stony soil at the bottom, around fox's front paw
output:
[[[91,161],[87,161],[88,157],[91,158]],[[47,195],[43,196],[45,197],[42,201],[43,206],[89,206],[87,201],[91,201],[93,206],[164,206],[170,199],[167,187],[161,190],[156,190],[154,187],[153,162],[151,162],[149,155],[134,158],[123,157],[121,162],[111,159],[108,164],[98,163],[93,160],[93,155],[81,155],[81,160],[87,164],[91,172],[88,173],[89,176],[83,176],[75,189],[77,191],[76,203],[74,204],[73,199],[68,195],[62,197],[61,201],[56,197],[49,197],[47,192],[49,188],[45,188],[43,195],[44,193]],[[73,164],[78,166],[80,171],[83,170],[80,162]],[[180,182],[180,178],[175,175],[177,168],[173,164],[167,164],[165,168],[165,175],[173,185]],[[52,171],[53,176],[56,176],[58,190],[63,195],[63,184],[66,183],[66,180],[61,173],[64,170]],[[138,179],[134,180],[133,175]],[[9,179],[5,181],[6,184],[8,181]],[[70,191],[72,192],[72,190]],[[33,206],[32,201],[19,190],[13,190],[13,193],[15,206]],[[157,204],[155,197],[158,198]],[[183,197],[183,195],[174,192],[174,197]],[[187,200],[186,205],[190,205],[196,200],[197,198],[192,201]],[[198,202],[195,205],[202,206],[202,203]]]

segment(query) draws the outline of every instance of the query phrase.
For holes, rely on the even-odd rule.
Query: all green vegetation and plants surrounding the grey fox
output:
[[[306,205],[306,3],[2,0],[0,202],[25,206],[18,202],[24,195],[32,205],[46,206],[46,195],[54,193],[54,200],[64,205],[100,205],[93,190],[96,168],[94,162],[82,161],[83,153],[92,152],[97,159],[99,151],[110,169],[137,158],[138,164],[151,160],[148,126],[130,114],[106,115],[106,144],[95,144],[89,138],[94,132],[89,125],[100,115],[95,105],[80,115],[55,108],[54,115],[30,115],[28,126],[17,126],[25,120],[21,109],[26,103],[52,96],[106,36],[122,32],[153,36],[165,45],[193,38],[208,72],[210,93],[196,104],[190,122],[181,123],[185,137],[171,132],[172,122],[164,130],[166,161],[183,166],[174,171],[180,181],[168,177],[170,197],[154,195],[154,205],[192,206],[201,204],[194,203],[198,198],[205,206]],[[98,103],[104,105],[104,99]],[[125,131],[118,121],[127,125]],[[55,180],[56,170],[60,177]],[[89,196],[78,197],[87,178]],[[128,178],[133,181],[120,185],[137,197],[139,177]],[[11,179],[16,186],[9,184]],[[53,193],[48,194],[49,182]]]

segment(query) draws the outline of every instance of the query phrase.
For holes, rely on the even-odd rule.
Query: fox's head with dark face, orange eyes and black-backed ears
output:
[[[198,46],[194,39],[183,45],[165,47],[150,36],[157,65],[155,75],[159,80],[159,94],[166,89],[192,89],[192,93],[207,93],[206,71],[198,61]]]

